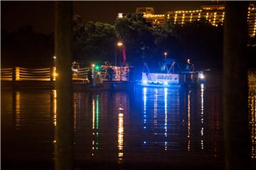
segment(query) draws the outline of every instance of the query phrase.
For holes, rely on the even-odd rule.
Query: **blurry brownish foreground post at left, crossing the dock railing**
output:
[[[55,4],[55,57],[57,115],[55,129],[55,169],[73,169],[73,92],[72,92],[72,16],[70,1]]]

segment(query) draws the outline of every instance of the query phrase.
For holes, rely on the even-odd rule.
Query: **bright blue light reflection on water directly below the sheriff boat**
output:
[[[164,147],[165,151],[168,151],[169,147],[171,150],[181,147],[181,143],[174,140],[180,133],[182,123],[179,89],[144,87],[142,104],[142,147]]]

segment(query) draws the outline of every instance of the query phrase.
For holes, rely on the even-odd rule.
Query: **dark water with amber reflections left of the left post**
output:
[[[50,91],[1,91],[1,161],[53,158]]]

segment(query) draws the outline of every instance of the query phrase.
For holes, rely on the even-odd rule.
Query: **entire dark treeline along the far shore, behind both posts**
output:
[[[191,59],[196,69],[221,69],[223,59],[223,26],[212,26],[200,21],[174,25],[168,21],[161,28],[153,28],[142,14],[129,13],[115,22],[82,22],[80,16],[73,19],[73,60],[90,65],[92,62],[114,62],[117,41],[121,40],[127,60],[142,68],[146,61],[150,68],[158,68],[159,61],[167,57],[180,63]],[[31,27],[15,32],[1,31],[1,65],[43,67],[53,64],[54,35],[35,33]],[[248,44],[250,59],[255,54],[255,38]],[[252,60],[253,61],[253,60]],[[254,67],[255,63],[250,62]],[[181,64],[181,67],[182,64]]]

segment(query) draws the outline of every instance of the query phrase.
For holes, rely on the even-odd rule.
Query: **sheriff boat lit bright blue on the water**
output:
[[[186,71],[175,71],[175,60],[164,59],[164,64],[161,65],[161,71],[166,70],[166,73],[151,73],[149,67],[144,63],[144,69],[147,72],[142,72],[142,80],[139,81],[139,86],[156,86],[156,87],[179,87],[185,84],[198,84],[204,81],[203,72],[194,72],[193,64],[190,60],[187,61]],[[164,69],[162,69],[164,67]]]

